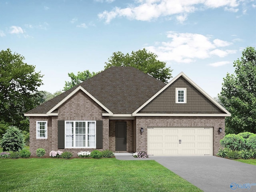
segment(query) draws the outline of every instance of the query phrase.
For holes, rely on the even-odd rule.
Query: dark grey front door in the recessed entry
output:
[[[126,151],[126,122],[116,122],[116,151]]]

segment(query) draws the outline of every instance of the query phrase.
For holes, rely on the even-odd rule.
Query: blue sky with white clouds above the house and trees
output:
[[[0,50],[24,56],[52,93],[68,72],[98,72],[113,52],[146,48],[215,97],[256,45],[255,0],[0,0],[0,16]]]

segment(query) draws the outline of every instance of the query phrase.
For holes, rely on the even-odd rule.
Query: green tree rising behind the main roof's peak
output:
[[[131,66],[165,83],[172,78],[172,70],[166,67],[166,62],[157,60],[157,55],[147,52],[145,48],[126,55],[120,51],[114,52],[105,64],[105,69],[112,66]]]

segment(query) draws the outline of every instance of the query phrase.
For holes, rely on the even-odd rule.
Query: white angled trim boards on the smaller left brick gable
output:
[[[72,91],[68,96],[66,96],[61,102],[59,102],[56,106],[54,106],[50,111],[48,111],[46,114],[50,114],[54,110],[56,110],[58,107],[60,107],[64,102],[66,102],[69,98],[71,98],[76,92],[79,90],[82,90],[86,95],[88,95],[92,100],[94,100],[98,105],[100,105],[106,112],[109,114],[113,114],[108,108],[106,108],[101,102],[99,102],[94,96],[92,96],[88,91],[86,91],[82,86],[78,86],[74,91]]]

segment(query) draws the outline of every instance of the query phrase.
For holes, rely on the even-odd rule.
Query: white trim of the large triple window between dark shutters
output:
[[[85,135],[86,135],[86,146],[85,147],[82,147],[82,146],[78,146],[78,147],[76,147],[76,146],[66,146],[66,122],[74,122],[74,125],[76,124],[76,122],[85,122],[85,124],[86,124],[86,131],[85,131]],[[91,147],[88,147],[87,146],[87,136],[88,136],[88,127],[87,127],[87,125],[88,125],[88,122],[94,122],[95,123],[95,146],[91,146]],[[64,131],[64,143],[65,143],[65,145],[64,145],[64,147],[65,148],[73,148],[73,149],[76,149],[76,148],[86,148],[86,149],[94,149],[94,148],[96,148],[96,121],[68,121],[68,120],[66,120],[65,121],[65,125],[64,125],[64,127],[65,127],[65,131]],[[75,127],[74,127],[74,145],[76,144],[76,134],[75,134]]]

